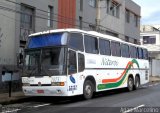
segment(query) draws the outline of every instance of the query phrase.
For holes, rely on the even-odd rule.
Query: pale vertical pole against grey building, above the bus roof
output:
[[[96,31],[99,30],[100,26],[100,0],[96,0]]]

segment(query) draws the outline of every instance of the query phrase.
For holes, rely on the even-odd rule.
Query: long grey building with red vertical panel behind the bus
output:
[[[6,72],[18,72],[31,33],[79,28],[136,44],[140,38],[140,6],[132,0],[1,0],[0,20],[0,84]]]

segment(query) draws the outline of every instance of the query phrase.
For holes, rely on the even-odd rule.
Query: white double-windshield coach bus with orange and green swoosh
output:
[[[25,49],[26,96],[76,96],[138,89],[149,82],[145,47],[95,31],[56,29],[31,34]]]

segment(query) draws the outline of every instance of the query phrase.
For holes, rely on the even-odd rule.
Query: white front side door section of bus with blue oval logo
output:
[[[69,91],[79,94],[83,89],[82,80],[84,71],[84,55],[75,50],[68,50],[68,85]],[[82,87],[82,88],[81,88]]]

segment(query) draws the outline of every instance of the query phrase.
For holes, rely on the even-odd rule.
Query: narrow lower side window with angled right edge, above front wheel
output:
[[[82,72],[85,68],[84,55],[78,53],[78,72]]]

